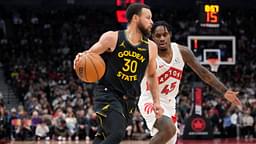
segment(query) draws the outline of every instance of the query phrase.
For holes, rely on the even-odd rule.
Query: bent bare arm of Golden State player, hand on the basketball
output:
[[[96,42],[89,50],[80,52],[76,55],[76,58],[74,59],[73,63],[73,68],[75,69],[75,65],[79,61],[79,58],[87,52],[102,54],[106,51],[113,51],[116,46],[117,35],[117,32],[114,31],[108,31],[102,34],[99,41]]]

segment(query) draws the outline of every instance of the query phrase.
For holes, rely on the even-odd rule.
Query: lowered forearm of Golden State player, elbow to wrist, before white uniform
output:
[[[158,87],[158,81],[156,76],[149,76],[148,77],[149,81],[149,88],[150,92],[153,97],[153,102],[154,103],[160,103],[160,97],[159,97],[159,87]]]

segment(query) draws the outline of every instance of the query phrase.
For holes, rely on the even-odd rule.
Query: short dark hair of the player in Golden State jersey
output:
[[[130,4],[126,10],[126,18],[128,23],[131,22],[133,15],[140,15],[143,8],[150,9],[150,7],[143,3]]]

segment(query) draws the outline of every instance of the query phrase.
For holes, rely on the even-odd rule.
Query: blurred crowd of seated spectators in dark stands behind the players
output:
[[[88,49],[107,30],[118,30],[114,11],[97,9],[0,10],[0,62],[5,81],[20,104],[6,109],[0,103],[0,135],[16,140],[89,140],[97,130],[93,111],[94,84],[81,82],[73,71],[77,52]],[[197,32],[196,13],[153,10],[155,20],[173,27],[172,41],[186,44]],[[203,115],[211,121],[216,137],[256,137],[256,16],[250,11],[227,11],[221,32],[237,39],[237,63],[220,66],[217,77],[240,92],[240,111],[207,85],[203,87]],[[200,79],[185,67],[177,97],[177,116],[182,137],[191,115],[192,83]],[[2,97],[2,96],[1,96]],[[0,99],[1,99],[0,97]],[[148,129],[139,112],[127,127],[127,138],[147,139]]]

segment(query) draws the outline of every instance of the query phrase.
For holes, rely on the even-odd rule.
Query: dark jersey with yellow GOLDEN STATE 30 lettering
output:
[[[104,53],[106,72],[100,84],[128,97],[140,95],[140,83],[149,61],[148,38],[133,46],[127,40],[125,31],[118,32],[116,48]]]

